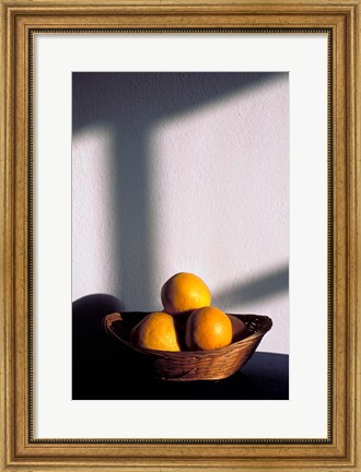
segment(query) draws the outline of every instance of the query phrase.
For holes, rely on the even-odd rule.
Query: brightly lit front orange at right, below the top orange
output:
[[[190,351],[213,350],[232,342],[232,323],[224,311],[203,307],[193,311],[186,324],[186,345]]]

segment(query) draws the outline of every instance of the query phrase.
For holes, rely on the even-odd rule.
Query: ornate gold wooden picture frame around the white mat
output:
[[[1,470],[360,469],[360,0],[1,2]],[[37,30],[327,31],[330,35],[330,434],[325,440],[34,439],[31,36]],[[36,185],[36,182],[34,184]]]

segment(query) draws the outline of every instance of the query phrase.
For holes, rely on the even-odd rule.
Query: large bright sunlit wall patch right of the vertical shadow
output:
[[[289,320],[288,92],[284,74],[160,120],[149,140],[160,281],[195,272],[224,310],[276,316],[282,330]],[[281,283],[266,291],[259,278]],[[243,296],[247,284],[253,297]],[[288,350],[287,339],[281,349]]]

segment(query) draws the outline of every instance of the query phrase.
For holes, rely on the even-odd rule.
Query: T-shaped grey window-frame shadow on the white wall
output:
[[[154,267],[149,193],[152,182],[149,181],[147,145],[154,122],[235,92],[249,91],[280,75],[275,72],[73,73],[74,135],[97,125],[109,126],[114,133],[110,166],[115,199],[109,211],[116,225],[114,233],[119,235],[113,240],[113,253],[121,271],[120,294],[128,293],[137,283],[142,299],[152,298],[149,283]],[[266,285],[268,292],[280,288],[279,283]],[[264,290],[261,284],[258,288]],[[251,290],[248,296],[255,296],[258,288]],[[243,292],[244,287],[240,293]],[[225,295],[220,294],[222,296]]]

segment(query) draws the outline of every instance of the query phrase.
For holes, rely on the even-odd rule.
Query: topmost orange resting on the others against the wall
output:
[[[205,282],[193,273],[179,272],[162,286],[162,304],[165,311],[177,315],[209,306],[211,294]]]

